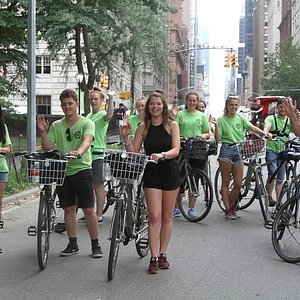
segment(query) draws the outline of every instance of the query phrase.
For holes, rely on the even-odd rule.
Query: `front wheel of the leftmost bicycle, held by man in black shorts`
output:
[[[37,224],[37,255],[41,270],[47,265],[49,252],[49,234],[50,234],[50,211],[48,196],[45,192],[40,193],[40,203]]]

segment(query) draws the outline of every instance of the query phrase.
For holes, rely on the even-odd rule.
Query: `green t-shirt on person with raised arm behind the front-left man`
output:
[[[95,139],[92,143],[92,151],[104,151],[106,149],[105,136],[109,120],[105,119],[107,112],[99,111],[95,114],[89,113],[86,117],[95,123]],[[98,155],[92,154],[93,160],[99,159]]]

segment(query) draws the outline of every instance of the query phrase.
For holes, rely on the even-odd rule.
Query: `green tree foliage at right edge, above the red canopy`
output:
[[[262,86],[269,95],[280,94],[300,99],[299,45],[293,45],[292,40],[277,45],[264,66]]]

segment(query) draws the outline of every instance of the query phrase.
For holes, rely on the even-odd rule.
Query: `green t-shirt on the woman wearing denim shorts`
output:
[[[238,143],[245,139],[245,131],[249,130],[251,122],[239,114],[234,117],[222,116],[218,119],[218,131],[222,143]]]

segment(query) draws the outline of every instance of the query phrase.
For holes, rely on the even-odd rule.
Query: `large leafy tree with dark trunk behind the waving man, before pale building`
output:
[[[87,92],[99,71],[110,73],[122,63],[132,70],[132,62],[156,56],[158,66],[166,50],[164,22],[168,11],[164,0],[48,0],[37,5],[39,38],[48,43],[53,58],[63,57],[63,69],[74,64],[84,74],[85,113],[89,111]],[[150,54],[149,54],[150,53]],[[167,57],[165,57],[167,62]]]

